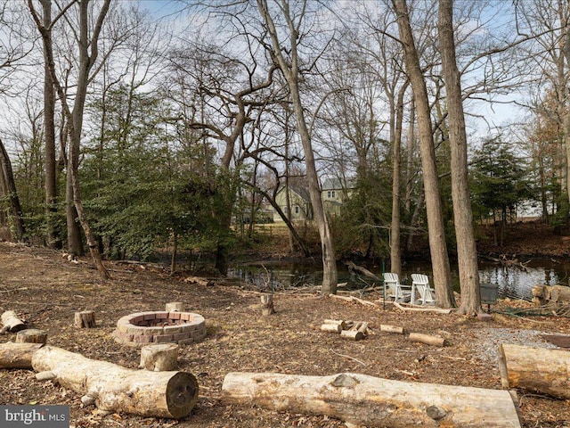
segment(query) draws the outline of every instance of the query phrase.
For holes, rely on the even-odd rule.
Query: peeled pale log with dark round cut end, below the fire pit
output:
[[[190,373],[132,370],[52,346],[37,350],[32,366],[52,372],[54,381],[93,398],[104,411],[181,418],[198,400],[198,383]]]

